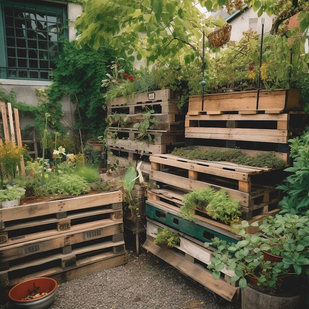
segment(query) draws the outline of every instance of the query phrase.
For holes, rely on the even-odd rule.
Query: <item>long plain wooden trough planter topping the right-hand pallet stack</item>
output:
[[[256,114],[259,111],[265,114],[280,114],[284,111],[300,109],[299,98],[300,90],[296,89],[261,90],[257,108],[256,90],[206,94],[204,102],[200,96],[192,96],[189,98],[188,115],[221,114],[222,112]]]

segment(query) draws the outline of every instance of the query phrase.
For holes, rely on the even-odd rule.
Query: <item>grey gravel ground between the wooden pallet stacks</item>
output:
[[[50,309],[241,308],[239,303],[218,304],[202,285],[153,254],[141,249],[136,256],[133,246],[126,247],[127,264],[60,284]],[[8,308],[9,302],[0,305],[0,309]]]

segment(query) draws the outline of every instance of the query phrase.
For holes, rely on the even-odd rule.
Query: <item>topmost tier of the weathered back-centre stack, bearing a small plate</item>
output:
[[[140,103],[155,103],[155,102],[173,102],[179,101],[181,92],[172,91],[171,89],[156,90],[150,92],[143,92],[129,97],[117,97],[107,102],[108,106],[121,106],[128,104]],[[134,113],[132,113],[134,114]]]

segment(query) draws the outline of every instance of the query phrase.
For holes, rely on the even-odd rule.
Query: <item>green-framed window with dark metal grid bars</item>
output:
[[[0,0],[0,78],[50,80],[67,29],[67,4]]]

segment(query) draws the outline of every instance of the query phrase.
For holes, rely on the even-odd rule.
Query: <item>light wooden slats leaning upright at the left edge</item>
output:
[[[13,108],[11,103],[5,104],[0,102],[1,107],[1,116],[2,116],[2,128],[5,141],[12,141],[14,145],[23,146],[21,139],[21,131],[19,125],[19,114],[18,109]],[[0,138],[0,145],[3,145],[3,141]],[[25,174],[25,162],[24,157],[22,156],[21,162],[21,173]]]

